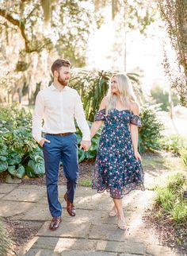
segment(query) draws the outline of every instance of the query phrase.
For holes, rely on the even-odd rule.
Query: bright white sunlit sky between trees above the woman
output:
[[[163,38],[166,38],[166,31],[156,23],[149,27],[147,38],[139,31],[127,33],[126,70],[137,73],[141,71],[140,74],[143,75],[141,81],[147,90],[155,83],[168,87],[162,67]],[[124,45],[122,42],[119,55],[118,52],[113,51],[115,41],[113,21],[108,17],[105,25],[90,37],[88,68],[124,72]]]

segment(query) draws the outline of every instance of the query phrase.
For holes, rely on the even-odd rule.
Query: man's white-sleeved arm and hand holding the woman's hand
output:
[[[88,123],[86,122],[86,117],[82,107],[82,102],[78,93],[77,93],[76,103],[74,107],[74,117],[78,123],[78,127],[82,132],[82,142],[81,142],[80,148],[83,148],[87,151],[91,145],[90,128]]]

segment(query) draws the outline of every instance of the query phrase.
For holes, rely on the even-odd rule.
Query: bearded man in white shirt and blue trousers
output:
[[[50,229],[55,231],[61,222],[62,206],[58,198],[59,161],[67,178],[67,212],[75,215],[74,192],[78,180],[78,147],[74,134],[74,118],[82,131],[81,148],[90,148],[90,129],[86,122],[78,92],[68,87],[71,77],[69,60],[55,60],[52,64],[54,83],[36,96],[32,119],[32,135],[44,152],[48,205],[52,214]],[[41,136],[44,119],[44,138]]]

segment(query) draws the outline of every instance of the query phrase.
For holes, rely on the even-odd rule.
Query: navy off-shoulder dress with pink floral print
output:
[[[121,199],[134,189],[144,190],[143,167],[134,157],[130,124],[141,126],[138,115],[132,111],[98,111],[95,121],[105,121],[93,171],[92,188],[107,190],[110,196]]]

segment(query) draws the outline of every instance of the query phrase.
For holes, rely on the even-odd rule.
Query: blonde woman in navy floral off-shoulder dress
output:
[[[91,138],[103,122],[92,188],[110,193],[114,205],[109,216],[117,215],[117,226],[125,230],[121,199],[124,194],[134,189],[144,190],[144,187],[138,152],[139,105],[132,83],[124,74],[112,76],[108,95],[102,99],[91,127]]]

